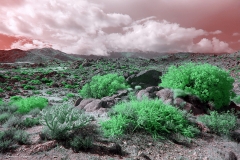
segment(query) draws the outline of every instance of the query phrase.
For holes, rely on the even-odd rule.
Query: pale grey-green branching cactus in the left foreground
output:
[[[90,117],[83,111],[67,105],[46,108],[40,113],[40,123],[45,126],[43,132],[50,139],[65,139],[71,131],[87,125],[90,121]]]

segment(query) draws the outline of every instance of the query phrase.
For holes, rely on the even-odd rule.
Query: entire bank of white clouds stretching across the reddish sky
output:
[[[104,4],[87,0],[3,0],[0,33],[21,37],[12,48],[52,47],[66,53],[107,55],[109,51],[232,52],[217,37],[221,30],[206,31],[179,23],[128,14],[105,12]],[[18,2],[18,3],[14,3]],[[11,5],[14,3],[14,5]],[[109,33],[109,28],[118,32]],[[234,34],[236,35],[236,34]],[[24,38],[22,38],[24,37]],[[199,41],[195,42],[197,38]],[[204,37],[204,38],[202,38]]]

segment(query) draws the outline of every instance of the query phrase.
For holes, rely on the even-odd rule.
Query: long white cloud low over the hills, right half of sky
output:
[[[142,22],[142,21],[141,21]],[[196,28],[183,28],[168,21],[147,20],[124,28],[125,33],[106,36],[107,48],[113,51],[151,52],[229,52],[228,44],[217,38],[202,39],[197,44],[193,40],[209,33]],[[215,32],[214,32],[215,33]],[[217,31],[217,34],[219,31]]]

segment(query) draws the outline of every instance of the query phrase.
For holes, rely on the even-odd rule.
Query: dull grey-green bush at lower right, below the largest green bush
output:
[[[219,135],[229,135],[230,131],[235,129],[237,125],[237,117],[230,111],[222,114],[212,111],[210,115],[198,116],[197,120],[203,122],[209,129]]]

